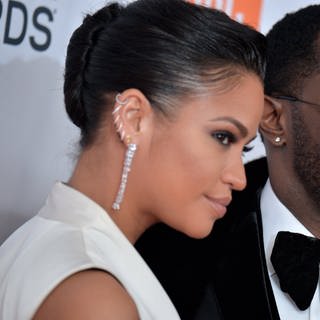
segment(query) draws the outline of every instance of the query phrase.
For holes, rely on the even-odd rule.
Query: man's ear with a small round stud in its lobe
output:
[[[260,132],[271,144],[282,146],[286,143],[286,122],[283,104],[275,98],[265,96]]]

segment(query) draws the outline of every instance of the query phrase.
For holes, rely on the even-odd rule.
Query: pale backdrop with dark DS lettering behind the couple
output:
[[[126,3],[129,1],[121,1]],[[312,0],[194,0],[263,33]],[[67,180],[77,129],[64,111],[66,47],[101,0],[0,0],[0,243],[37,213],[56,180]],[[250,161],[264,154],[257,139]]]

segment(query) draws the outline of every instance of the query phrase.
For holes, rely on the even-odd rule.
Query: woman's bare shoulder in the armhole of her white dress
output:
[[[101,270],[76,273],[55,288],[33,320],[138,320],[135,303],[123,286]]]

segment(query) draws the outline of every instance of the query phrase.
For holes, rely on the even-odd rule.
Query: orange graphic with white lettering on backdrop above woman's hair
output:
[[[225,11],[231,18],[260,28],[263,0],[190,0],[189,2]]]

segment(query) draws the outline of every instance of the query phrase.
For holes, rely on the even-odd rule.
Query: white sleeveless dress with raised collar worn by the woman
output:
[[[32,319],[64,279],[97,268],[114,275],[141,320],[180,319],[144,260],[109,215],[57,182],[45,206],[0,247],[0,320]]]

